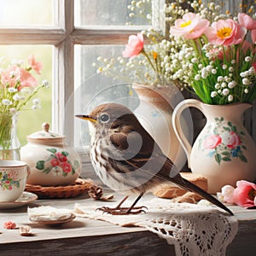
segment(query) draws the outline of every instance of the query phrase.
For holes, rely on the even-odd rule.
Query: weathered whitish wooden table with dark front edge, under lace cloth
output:
[[[115,198],[120,198],[115,195]],[[27,207],[52,206],[73,209],[75,202],[98,204],[88,197],[58,200],[38,200],[16,209],[0,209],[0,255],[175,255],[172,245],[143,228],[124,228],[103,221],[75,218],[60,226],[33,224],[27,216]],[[232,206],[239,220],[239,230],[230,244],[227,255],[256,252],[256,210]],[[17,226],[30,225],[33,236],[20,236],[19,230],[3,229],[7,220]],[[48,254],[47,254],[48,255]]]

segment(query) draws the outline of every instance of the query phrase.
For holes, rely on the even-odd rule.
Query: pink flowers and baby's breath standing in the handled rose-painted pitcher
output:
[[[245,13],[213,21],[186,13],[171,26],[183,40],[173,79],[189,84],[202,102],[224,105],[256,98],[256,20]]]

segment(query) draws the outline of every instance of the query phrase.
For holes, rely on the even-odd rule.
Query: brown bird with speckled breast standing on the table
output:
[[[162,152],[130,108],[109,102],[76,117],[89,121],[90,160],[97,176],[113,191],[126,194],[116,207],[98,210],[112,215],[145,212],[147,207],[136,206],[144,194],[154,193],[164,183],[175,183],[233,215],[222,202],[179,174],[177,166]],[[136,200],[130,207],[122,207],[130,195],[137,195]]]

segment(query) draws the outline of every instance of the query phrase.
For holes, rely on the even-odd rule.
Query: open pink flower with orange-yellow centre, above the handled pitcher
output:
[[[240,44],[246,33],[247,29],[244,26],[231,19],[212,22],[212,26],[209,26],[206,31],[207,38],[211,44],[225,46]]]

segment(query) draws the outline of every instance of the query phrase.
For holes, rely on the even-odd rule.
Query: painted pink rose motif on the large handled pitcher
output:
[[[202,137],[199,141],[199,148],[207,150],[207,155],[214,157],[218,165],[222,161],[231,161],[232,158],[239,158],[241,161],[247,163],[247,158],[243,154],[243,150],[247,148],[243,144],[243,131],[237,131],[236,125],[228,122],[224,125],[224,118],[215,118],[216,127],[212,125],[207,127],[207,135]]]

